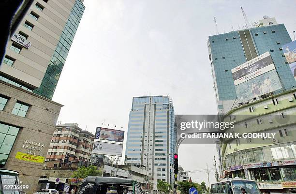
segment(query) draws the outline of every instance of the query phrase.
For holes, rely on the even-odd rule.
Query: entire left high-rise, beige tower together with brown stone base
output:
[[[81,0],[34,0],[0,65],[0,168],[20,172],[30,194],[51,148],[63,105],[50,99],[83,11]]]

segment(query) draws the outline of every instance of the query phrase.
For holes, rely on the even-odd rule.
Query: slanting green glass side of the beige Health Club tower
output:
[[[34,90],[34,93],[52,99],[84,9],[85,6],[81,0],[76,0],[66,26],[60,36],[59,44],[49,62],[41,86]]]

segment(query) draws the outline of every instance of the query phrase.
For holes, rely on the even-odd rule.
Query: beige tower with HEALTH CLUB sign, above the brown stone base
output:
[[[81,0],[36,0],[8,42],[0,80],[48,99],[84,12]]]

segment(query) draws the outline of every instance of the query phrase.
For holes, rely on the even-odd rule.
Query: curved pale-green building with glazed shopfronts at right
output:
[[[253,110],[252,112],[250,112]],[[296,90],[244,104],[224,115],[225,133],[274,133],[274,137],[221,142],[225,177],[252,179],[261,191],[288,193],[296,185]]]

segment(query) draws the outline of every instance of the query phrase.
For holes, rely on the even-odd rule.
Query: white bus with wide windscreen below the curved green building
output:
[[[246,194],[261,194],[255,181],[239,178],[223,179],[211,184],[210,192],[211,194],[242,194],[242,188],[245,189]]]

